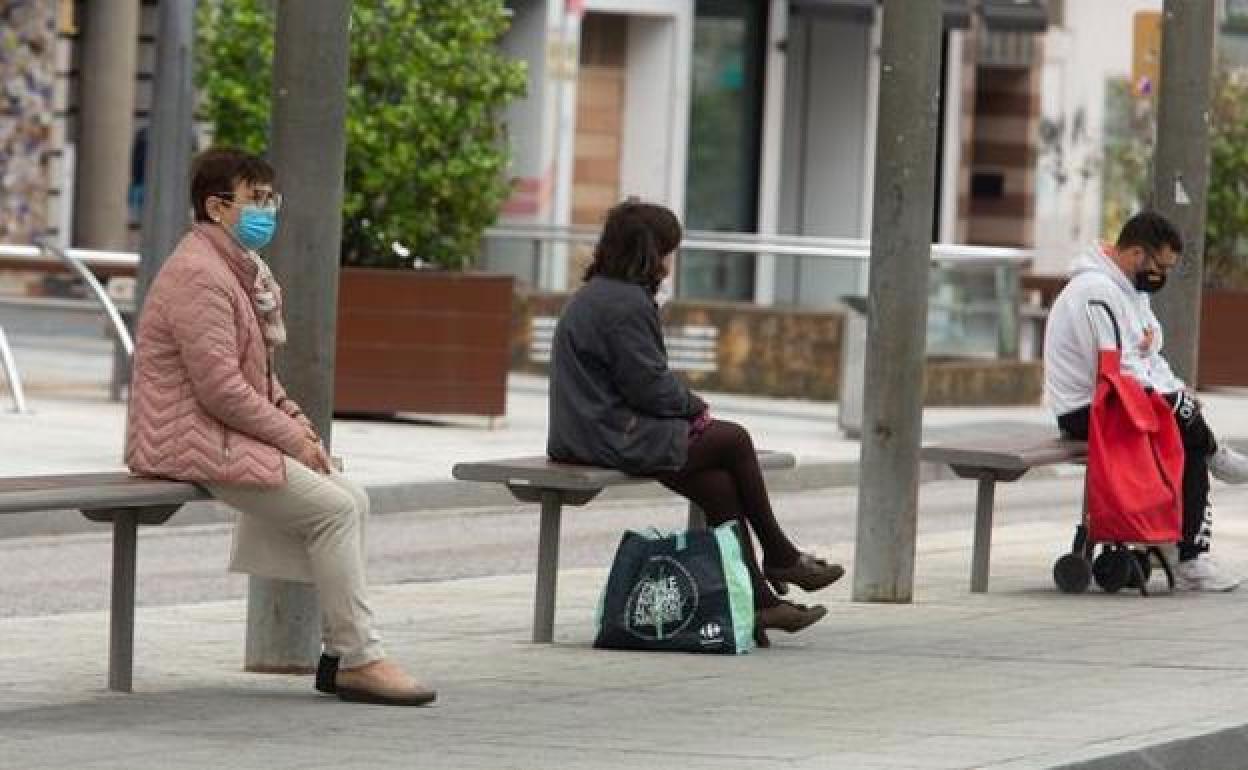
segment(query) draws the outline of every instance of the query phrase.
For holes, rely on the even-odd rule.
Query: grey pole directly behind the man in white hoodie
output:
[[[1176,271],[1166,290],[1157,295],[1156,311],[1166,329],[1166,358],[1193,387],[1204,277],[1213,31],[1214,0],[1166,0],[1153,206],[1183,233],[1183,261],[1182,270]]]

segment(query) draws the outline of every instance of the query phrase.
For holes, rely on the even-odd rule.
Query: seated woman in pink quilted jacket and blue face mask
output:
[[[273,168],[208,150],[191,178],[195,225],[152,282],[139,322],[126,424],[135,473],[197,482],[242,513],[232,567],[316,584],[317,689],[419,705],[436,693],[387,660],[364,578],[368,495],[333,472],[272,372],[281,290],[256,250],[277,227]]]

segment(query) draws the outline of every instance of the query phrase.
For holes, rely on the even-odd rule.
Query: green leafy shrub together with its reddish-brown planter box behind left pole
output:
[[[273,5],[206,0],[197,11],[202,114],[217,142],[257,154]],[[339,412],[503,413],[510,278],[448,271],[472,266],[509,193],[500,111],[527,74],[498,47],[508,24],[502,0],[352,5]]]

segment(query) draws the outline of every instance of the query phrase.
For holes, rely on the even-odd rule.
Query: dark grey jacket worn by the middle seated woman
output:
[[[550,356],[552,459],[635,475],[685,464],[689,419],[706,404],[668,368],[645,288],[590,278],[564,308]]]

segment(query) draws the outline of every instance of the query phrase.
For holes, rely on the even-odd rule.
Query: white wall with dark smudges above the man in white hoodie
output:
[[[1042,114],[1066,122],[1066,182],[1041,156],[1036,175],[1036,270],[1066,272],[1070,258],[1101,228],[1099,161],[1103,150],[1106,80],[1131,75],[1132,19],[1159,11],[1162,0],[1075,0],[1066,2],[1065,27],[1045,39]],[[1071,136],[1082,111],[1083,134]],[[1082,173],[1092,173],[1085,181]]]

